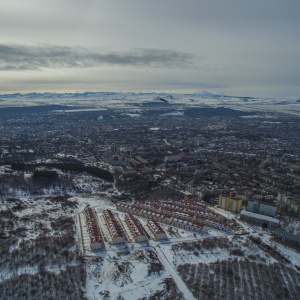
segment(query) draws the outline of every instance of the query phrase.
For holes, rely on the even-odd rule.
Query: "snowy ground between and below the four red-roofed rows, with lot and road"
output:
[[[80,203],[78,211],[80,212],[79,216],[83,226],[81,227],[82,232],[79,234],[83,241],[81,248],[84,249],[84,255],[88,260],[87,296],[89,299],[97,298],[99,295],[104,297],[105,293],[107,293],[106,291],[109,291],[110,296],[107,299],[116,299],[119,295],[122,295],[124,299],[130,300],[142,299],[144,297],[148,299],[157,290],[161,291],[161,293],[165,292],[163,281],[167,278],[174,280],[185,299],[193,299],[193,295],[177,273],[172,246],[178,242],[189,242],[225,235],[225,233],[213,229],[209,229],[203,233],[194,233],[161,224],[168,235],[167,240],[150,240],[143,243],[134,243],[124,221],[125,213],[116,210],[115,205],[110,201],[108,195],[101,197],[74,197],[72,199]],[[105,237],[106,250],[91,251],[89,249],[89,237],[85,230],[84,217],[81,214],[87,205],[96,210],[99,226]],[[120,245],[111,245],[108,243],[109,233],[102,216],[104,209],[111,209],[121,221],[128,236],[128,243]],[[151,236],[146,226],[147,219],[137,218],[145,231]],[[154,261],[163,266],[163,270],[159,273],[152,272],[148,274],[148,270],[153,264],[153,255],[149,256],[149,252],[156,257]]]

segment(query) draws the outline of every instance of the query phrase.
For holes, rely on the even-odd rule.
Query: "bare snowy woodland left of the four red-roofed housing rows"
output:
[[[85,299],[75,201],[10,199],[0,210],[0,299]]]

